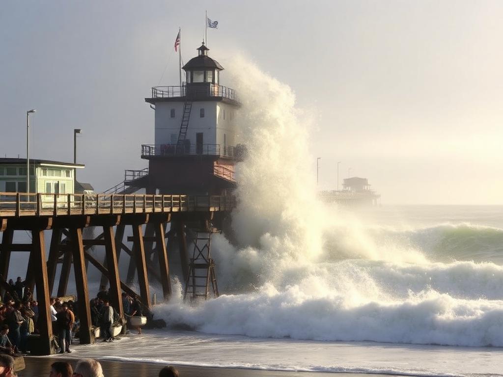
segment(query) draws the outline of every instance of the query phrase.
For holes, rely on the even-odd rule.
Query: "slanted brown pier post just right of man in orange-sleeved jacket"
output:
[[[94,343],[94,334],[91,331],[91,310],[89,304],[86,261],[84,259],[84,246],[82,244],[82,228],[71,229],[70,237],[73,252],[75,285],[77,288],[78,314],[80,318],[80,344],[92,344]]]

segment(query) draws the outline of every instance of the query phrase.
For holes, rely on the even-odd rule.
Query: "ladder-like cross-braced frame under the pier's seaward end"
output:
[[[189,262],[189,274],[185,282],[184,300],[190,298],[208,299],[210,289],[213,296],[218,297],[215,261],[211,258],[212,229],[196,230],[194,238],[194,251]],[[211,286],[210,286],[211,284]]]

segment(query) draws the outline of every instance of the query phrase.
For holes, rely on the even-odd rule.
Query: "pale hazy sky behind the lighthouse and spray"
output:
[[[97,191],[147,166],[144,98],[178,83],[178,27],[188,61],[206,9],[212,57],[244,54],[316,118],[321,189],[342,161],[383,204],[503,204],[498,1],[2,1],[0,154],[26,156],[35,108],[31,156],[72,161],[81,128],[79,180]]]

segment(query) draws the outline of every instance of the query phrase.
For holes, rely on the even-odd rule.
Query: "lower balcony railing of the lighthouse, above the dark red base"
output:
[[[188,140],[187,140],[188,141]],[[235,147],[220,144],[154,144],[141,146],[141,157],[207,155],[233,158]]]

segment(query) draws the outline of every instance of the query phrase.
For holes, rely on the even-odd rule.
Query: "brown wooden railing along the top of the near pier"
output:
[[[230,211],[231,196],[0,193],[0,217]]]

